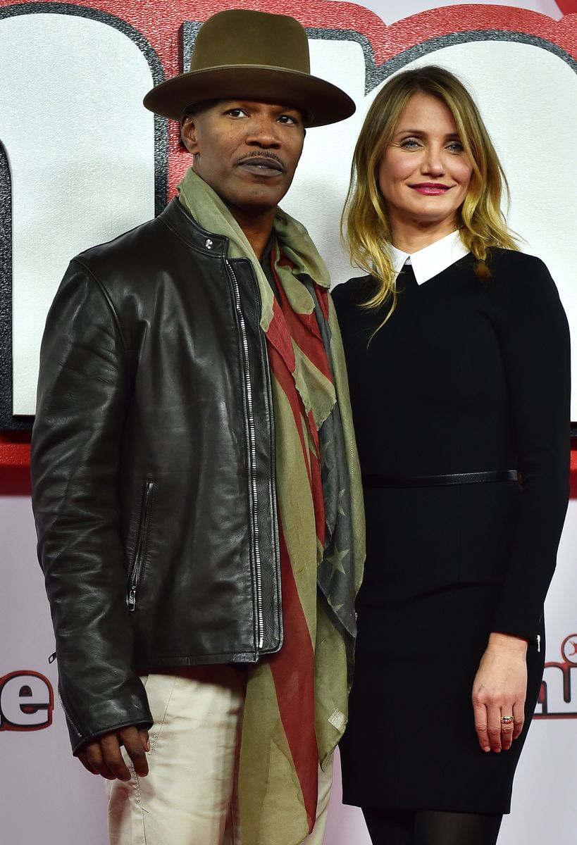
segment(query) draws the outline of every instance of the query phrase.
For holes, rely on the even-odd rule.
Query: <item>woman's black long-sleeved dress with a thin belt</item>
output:
[[[367,559],[343,800],[507,813],[544,661],[542,608],[569,497],[569,330],[539,259],[472,255],[418,286],[387,324],[371,277],[332,296],[363,475],[519,470],[518,482],[367,488]],[[370,341],[370,342],[369,342]],[[524,733],[481,751],[471,690],[492,631],[526,637]]]

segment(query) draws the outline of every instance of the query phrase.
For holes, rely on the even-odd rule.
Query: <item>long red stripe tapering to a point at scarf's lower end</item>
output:
[[[278,710],[303,793],[310,832],[316,820],[319,765],[315,733],[315,652],[280,521],[278,529],[284,642],[282,649],[269,660]]]

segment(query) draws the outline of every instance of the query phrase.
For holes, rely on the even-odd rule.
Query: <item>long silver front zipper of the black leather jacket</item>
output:
[[[246,396],[246,417],[248,421],[247,440],[249,446],[249,488],[252,504],[252,531],[254,537],[254,552],[255,552],[255,586],[256,586],[256,640],[258,648],[261,649],[264,644],[264,619],[262,614],[262,568],[261,568],[261,548],[259,545],[259,530],[258,530],[258,492],[256,488],[256,429],[255,417],[252,406],[252,385],[250,384],[250,365],[249,365],[249,341],[246,335],[245,316],[240,308],[240,291],[239,282],[234,275],[234,270],[231,264],[227,261],[227,267],[233,281],[234,290],[234,306],[239,315],[240,337],[242,340],[243,349],[243,363],[245,366],[245,396]]]

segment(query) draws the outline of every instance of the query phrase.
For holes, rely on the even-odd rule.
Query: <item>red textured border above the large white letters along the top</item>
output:
[[[423,52],[465,41],[517,41],[541,46],[568,61],[577,71],[577,0],[560,0],[565,17],[555,21],[529,9],[508,6],[466,5],[428,9],[391,25],[369,9],[353,3],[297,0],[84,0],[83,3],[13,3],[0,0],[0,20],[19,14],[72,14],[113,26],[140,47],[151,67],[155,84],[186,68],[190,48],[201,21],[223,8],[261,8],[290,14],[305,26],[311,38],[357,41],[365,54],[366,92]],[[425,49],[424,49],[425,48]],[[142,95],[146,91],[141,92]],[[157,211],[162,210],[188,166],[179,147],[179,127],[157,120]],[[168,158],[168,172],[165,170]]]

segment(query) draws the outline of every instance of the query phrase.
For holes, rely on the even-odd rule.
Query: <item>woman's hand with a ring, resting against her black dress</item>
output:
[[[473,682],[475,731],[483,751],[508,750],[523,730],[527,694],[527,641],[491,634]],[[501,717],[513,716],[503,724]]]

